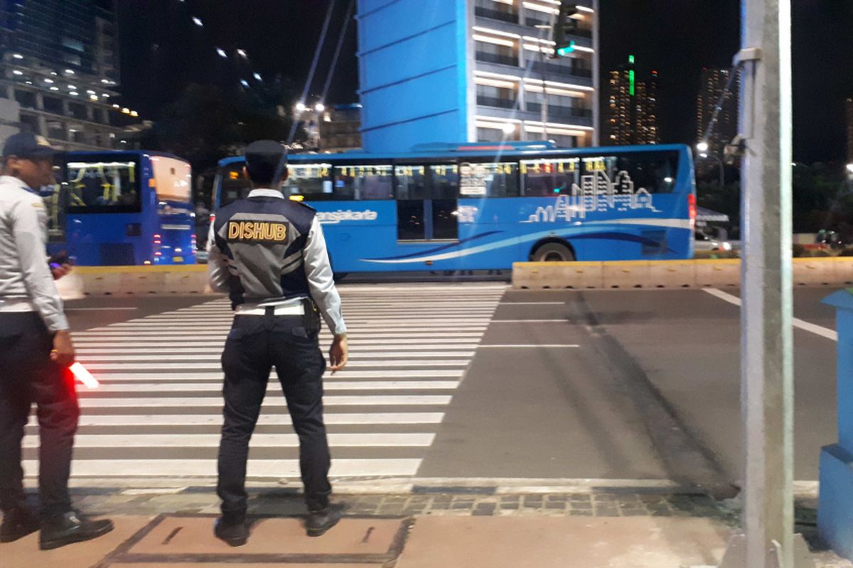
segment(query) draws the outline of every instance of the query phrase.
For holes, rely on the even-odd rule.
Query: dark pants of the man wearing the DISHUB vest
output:
[[[314,325],[311,325],[314,327]],[[317,326],[319,327],[319,326]],[[326,360],[318,330],[306,330],[300,316],[236,316],[225,350],[225,418],[219,445],[222,512],[235,518],[246,513],[246,462],[249,439],[264,400],[270,370],[276,368],[293,428],[299,436],[299,468],[305,502],[312,511],[328,506],[330,458],[322,420],[322,374]]]

